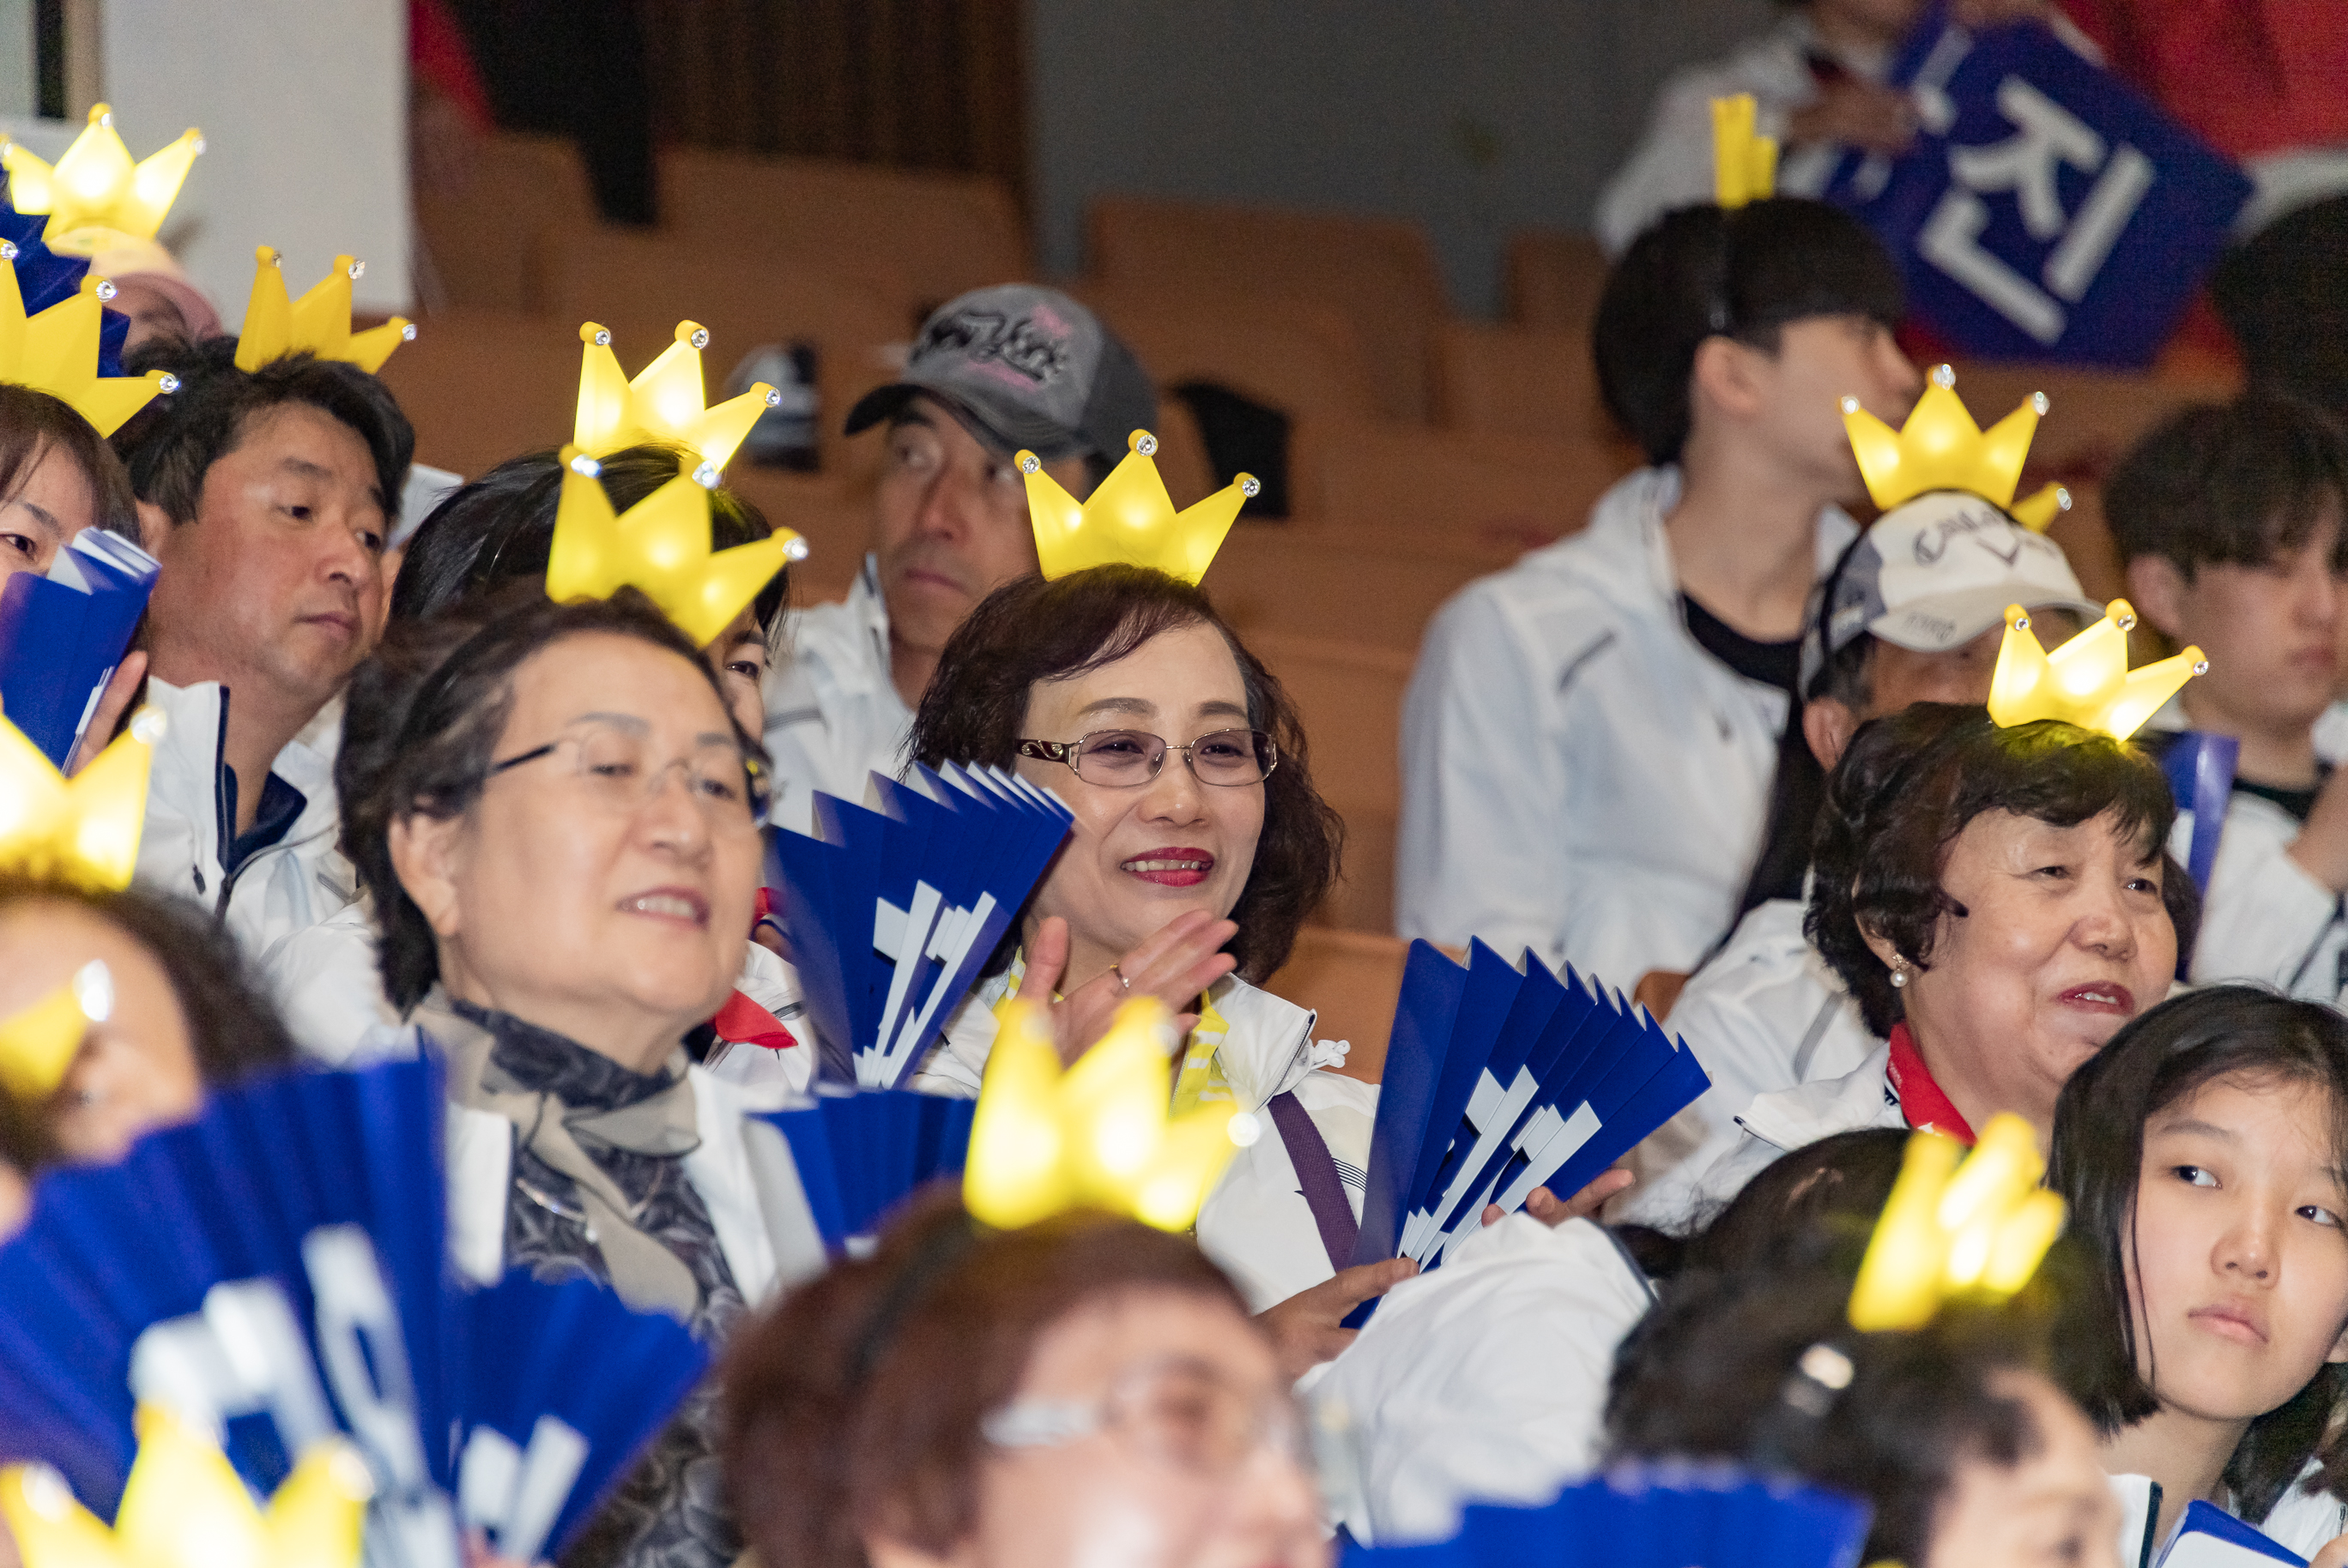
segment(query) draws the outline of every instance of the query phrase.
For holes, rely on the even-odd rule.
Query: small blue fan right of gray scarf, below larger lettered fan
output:
[[[756,1115],[791,1145],[824,1251],[841,1253],[880,1228],[890,1209],[970,1157],[977,1101],[909,1089],[824,1089]]]

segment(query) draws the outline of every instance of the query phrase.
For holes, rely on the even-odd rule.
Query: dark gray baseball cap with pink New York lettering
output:
[[[857,399],[848,434],[871,430],[916,392],[953,408],[970,434],[1047,462],[1118,460],[1155,430],[1158,390],[1101,319],[1057,289],[998,284],[939,305],[920,324],[904,376]]]

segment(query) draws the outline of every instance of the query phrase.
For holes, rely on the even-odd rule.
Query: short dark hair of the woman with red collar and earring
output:
[[[1914,967],[1932,967],[1942,915],[1965,913],[1939,885],[1949,847],[1982,812],[2064,829],[2116,812],[2144,864],[2160,861],[2160,904],[2177,951],[2193,951],[2200,894],[2167,854],[2177,803],[2148,756],[2059,718],[2008,730],[1989,709],[1918,702],[1860,725],[1827,779],[1801,925],[1871,1033],[1888,1035],[1904,1014],[1867,932],[1885,937]]]

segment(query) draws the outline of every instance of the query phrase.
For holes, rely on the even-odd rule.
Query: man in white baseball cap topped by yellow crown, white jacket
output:
[[[2047,646],[2104,615],[2054,540],[1979,495],[1935,491],[1876,521],[1827,575],[1803,636],[1801,730],[1817,763],[1834,772],[1862,723],[1911,702],[1989,702],[2015,603]],[[1801,934],[1813,829],[1770,822],[1754,878],[1775,861],[1792,887],[1749,901],[1672,1005],[1672,1033],[1705,1063],[1712,1089],[1639,1148],[1620,1218],[1672,1225],[1721,1197],[1698,1188],[1738,1143],[1754,1099],[1794,1099],[1780,1091],[1834,1082],[1883,1047]]]

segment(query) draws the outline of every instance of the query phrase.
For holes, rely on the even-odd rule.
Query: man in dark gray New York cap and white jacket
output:
[[[963,617],[1035,570],[1028,448],[1071,495],[1089,495],[1158,394],[1132,350],[1066,293],[977,289],[923,322],[904,376],[848,413],[885,425],[871,554],[843,603],[791,617],[791,653],[765,683],[777,819],[805,831],[810,791],[864,800],[895,775],[913,707]]]

